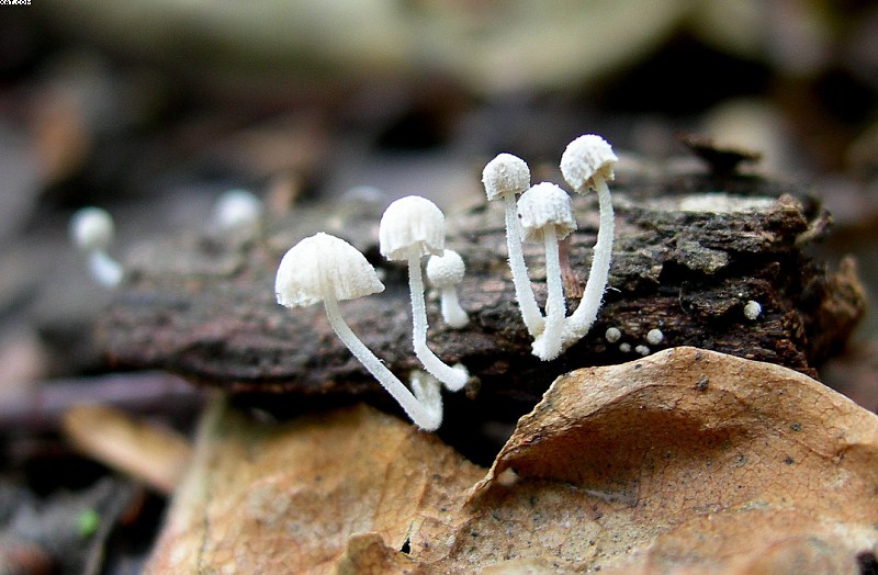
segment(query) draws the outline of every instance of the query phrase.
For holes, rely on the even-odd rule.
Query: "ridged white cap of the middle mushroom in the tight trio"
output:
[[[543,230],[553,226],[558,239],[576,229],[573,202],[567,192],[549,182],[540,182],[518,199],[518,221],[524,238],[542,239]]]

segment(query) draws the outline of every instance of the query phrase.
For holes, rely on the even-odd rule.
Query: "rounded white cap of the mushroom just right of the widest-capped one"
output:
[[[446,216],[437,205],[419,195],[393,202],[381,216],[378,229],[381,255],[404,260],[417,247],[420,256],[442,253],[446,248]]]

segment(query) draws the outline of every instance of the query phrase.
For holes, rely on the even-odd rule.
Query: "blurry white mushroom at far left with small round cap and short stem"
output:
[[[113,218],[101,207],[82,207],[70,218],[70,237],[88,256],[94,281],[104,288],[115,288],[124,277],[122,266],[106,252],[114,234]]]

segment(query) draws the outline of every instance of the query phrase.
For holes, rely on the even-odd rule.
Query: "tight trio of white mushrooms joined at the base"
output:
[[[600,214],[597,243],[588,280],[576,311],[566,317],[566,301],[561,282],[560,240],[576,229],[570,195],[560,187],[530,184],[530,169],[521,158],[500,154],[482,173],[487,199],[506,205],[506,245],[513,272],[516,300],[528,332],[533,337],[533,354],[543,361],[555,359],[582,339],[595,323],[604,298],[612,253],[612,202],[607,181],[612,180],[617,161],[610,145],[600,136],[587,134],[571,142],[561,156],[561,173],[575,192],[597,192]],[[516,202],[516,196],[521,196]],[[545,315],[540,312],[530,285],[521,239],[537,240],[545,249]]]

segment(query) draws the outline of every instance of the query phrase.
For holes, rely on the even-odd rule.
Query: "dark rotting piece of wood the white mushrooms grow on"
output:
[[[444,326],[434,294],[429,345],[474,375],[470,404],[489,401],[519,414],[559,374],[633,359],[641,345],[653,352],[696,346],[813,375],[864,313],[853,260],[829,271],[807,253],[826,233],[829,215],[796,185],[744,176],[620,176],[611,189],[611,286],[592,331],[551,362],[530,353],[506,264],[502,208],[476,203],[447,213],[448,246],[468,264],[459,293],[471,323],[460,330]],[[565,248],[569,295],[585,283],[597,226],[594,196],[574,202],[579,229]],[[204,235],[145,246],[130,258],[130,280],[100,322],[101,346],[114,364],[166,369],[233,392],[296,401],[383,397],[333,334],[322,306],[290,311],[273,293],[278,261],[295,241],[319,230],[349,240],[384,274],[386,291],[342,303],[342,314],[405,380],[419,368],[407,280],[402,267],[379,255],[379,218],[356,206],[303,206],[251,244]],[[542,305],[542,247],[525,249]],[[743,313],[751,300],[762,305],[755,320]],[[569,308],[576,303],[569,300]],[[621,331],[619,341],[607,341],[609,327]],[[653,328],[664,335],[657,346],[645,340]]]

